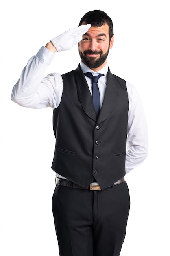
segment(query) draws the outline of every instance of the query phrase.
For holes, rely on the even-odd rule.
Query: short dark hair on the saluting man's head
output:
[[[111,40],[113,34],[113,22],[111,18],[104,12],[100,10],[94,10],[87,12],[80,20],[79,26],[85,22],[86,24],[91,24],[93,27],[101,27],[105,23],[109,26],[109,38]]]

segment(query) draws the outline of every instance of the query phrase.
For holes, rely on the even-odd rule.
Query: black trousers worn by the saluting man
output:
[[[126,182],[103,191],[57,185],[52,211],[60,256],[119,256],[129,208]]]

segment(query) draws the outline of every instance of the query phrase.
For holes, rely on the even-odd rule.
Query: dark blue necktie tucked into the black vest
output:
[[[98,76],[93,76],[91,72],[85,73],[84,75],[88,76],[89,78],[92,78],[92,99],[96,115],[98,116],[100,112],[100,92],[97,82],[100,76],[104,75],[99,74]]]

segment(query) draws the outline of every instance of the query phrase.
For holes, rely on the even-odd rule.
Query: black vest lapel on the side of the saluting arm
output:
[[[78,97],[81,102],[81,106],[83,107],[83,110],[85,113],[94,121],[96,121],[96,112],[94,110],[92,96],[89,91],[89,87],[87,85],[87,81],[85,79],[85,76],[81,70],[80,65],[75,70],[75,81],[76,81],[76,87],[78,92]]]

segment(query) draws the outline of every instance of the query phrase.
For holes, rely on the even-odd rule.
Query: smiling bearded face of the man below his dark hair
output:
[[[84,25],[84,23],[82,24]],[[94,71],[106,65],[109,49],[113,47],[113,37],[109,39],[107,23],[101,27],[90,27],[78,44],[81,60]]]

